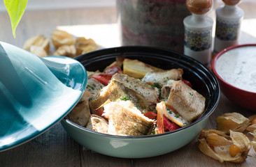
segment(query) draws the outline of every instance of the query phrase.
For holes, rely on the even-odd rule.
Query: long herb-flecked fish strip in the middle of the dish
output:
[[[114,74],[112,77],[113,80],[118,81],[124,84],[127,88],[140,93],[145,97],[145,100],[151,102],[152,104],[157,104],[157,99],[159,97],[159,90],[140,79],[135,79],[134,77],[129,77],[127,74]]]

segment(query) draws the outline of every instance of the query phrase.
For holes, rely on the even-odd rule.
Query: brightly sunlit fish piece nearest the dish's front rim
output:
[[[129,101],[106,104],[103,115],[108,118],[108,134],[140,136],[152,133],[154,120],[143,116]]]

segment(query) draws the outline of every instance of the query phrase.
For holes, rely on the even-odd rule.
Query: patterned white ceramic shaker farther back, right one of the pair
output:
[[[243,10],[237,6],[241,0],[222,0],[225,5],[216,9],[216,30],[213,54],[239,44]]]

